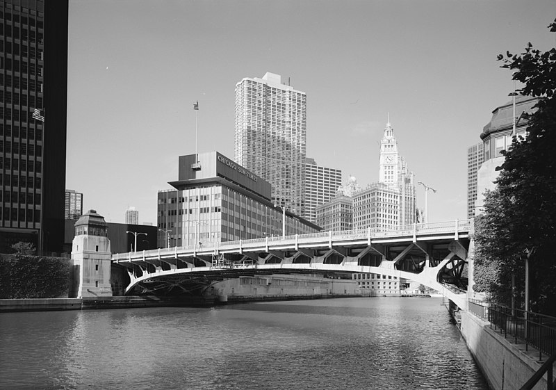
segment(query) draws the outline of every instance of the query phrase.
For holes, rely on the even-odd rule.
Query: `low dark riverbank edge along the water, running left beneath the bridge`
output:
[[[0,299],[0,313],[15,311],[62,311],[89,309],[132,309],[136,307],[211,307],[220,304],[272,302],[280,300],[313,300],[329,298],[361,298],[353,294],[319,295],[214,295],[209,297],[161,298],[147,296],[116,296],[88,298],[26,298]]]

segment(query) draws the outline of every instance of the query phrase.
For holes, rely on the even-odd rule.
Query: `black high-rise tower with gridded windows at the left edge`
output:
[[[0,252],[64,242],[68,1],[0,1]]]

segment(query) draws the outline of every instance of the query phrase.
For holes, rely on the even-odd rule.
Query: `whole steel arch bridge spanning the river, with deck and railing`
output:
[[[358,229],[113,254],[127,269],[125,293],[200,293],[223,279],[292,273],[376,273],[440,291],[467,307],[473,220]]]

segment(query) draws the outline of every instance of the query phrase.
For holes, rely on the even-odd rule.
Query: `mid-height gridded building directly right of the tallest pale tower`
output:
[[[341,185],[341,170],[321,167],[314,159],[305,159],[305,218],[314,223],[317,206],[332,200]]]

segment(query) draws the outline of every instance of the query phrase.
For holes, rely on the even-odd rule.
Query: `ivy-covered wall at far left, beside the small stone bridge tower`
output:
[[[0,298],[67,297],[71,260],[28,254],[0,254]]]

